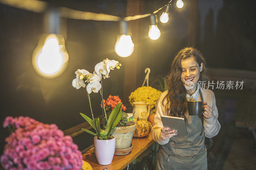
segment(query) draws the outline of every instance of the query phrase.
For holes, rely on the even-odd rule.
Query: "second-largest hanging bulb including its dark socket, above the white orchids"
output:
[[[120,35],[117,36],[115,52],[120,57],[128,57],[133,53],[134,44],[130,35],[127,35],[127,22],[120,21]]]

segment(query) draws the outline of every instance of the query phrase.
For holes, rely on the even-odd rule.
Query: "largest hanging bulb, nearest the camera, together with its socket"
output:
[[[59,34],[60,15],[56,8],[49,8],[44,15],[44,31],[32,55],[36,72],[45,78],[54,78],[63,73],[68,64],[64,37]]]

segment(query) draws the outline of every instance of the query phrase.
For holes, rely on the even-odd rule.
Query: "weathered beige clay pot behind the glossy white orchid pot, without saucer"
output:
[[[135,129],[135,122],[131,126],[115,127],[113,136],[116,138],[116,149],[124,149],[131,146],[132,135]]]

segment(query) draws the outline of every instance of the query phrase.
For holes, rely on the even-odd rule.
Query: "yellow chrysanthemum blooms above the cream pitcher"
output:
[[[150,107],[152,109],[156,107],[156,100],[161,93],[161,91],[151,86],[138,87],[134,92],[131,92],[129,96],[129,102],[132,106],[132,103],[135,101],[150,103]]]

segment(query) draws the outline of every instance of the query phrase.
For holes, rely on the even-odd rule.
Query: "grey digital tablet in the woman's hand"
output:
[[[184,118],[161,116],[164,128],[170,128],[171,130],[177,130],[178,135],[188,135]]]

